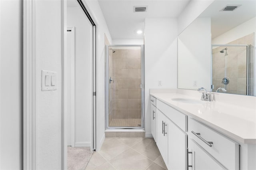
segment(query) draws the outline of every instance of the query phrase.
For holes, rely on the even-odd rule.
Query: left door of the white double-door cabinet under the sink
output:
[[[158,109],[156,109],[156,120],[157,120],[157,131],[156,131],[156,137],[157,137],[157,146],[158,149],[164,159],[165,164],[168,162],[168,134],[164,134],[164,124],[166,123],[166,117],[165,115],[160,112]],[[168,125],[165,124],[165,129],[168,129]],[[168,133],[168,132],[167,132]]]

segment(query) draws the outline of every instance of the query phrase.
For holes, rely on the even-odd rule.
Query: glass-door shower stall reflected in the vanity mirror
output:
[[[252,45],[212,45],[212,91],[252,95]]]

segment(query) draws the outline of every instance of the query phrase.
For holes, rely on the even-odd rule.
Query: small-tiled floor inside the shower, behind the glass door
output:
[[[110,127],[141,127],[141,119],[112,119]]]

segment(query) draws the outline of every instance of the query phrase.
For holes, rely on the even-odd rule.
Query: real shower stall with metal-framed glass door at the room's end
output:
[[[106,45],[106,128],[144,128],[144,45]]]

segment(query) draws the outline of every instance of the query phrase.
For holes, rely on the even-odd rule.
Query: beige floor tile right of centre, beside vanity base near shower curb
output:
[[[153,161],[160,155],[156,142],[149,138],[144,138],[144,140],[135,144],[132,148]]]

